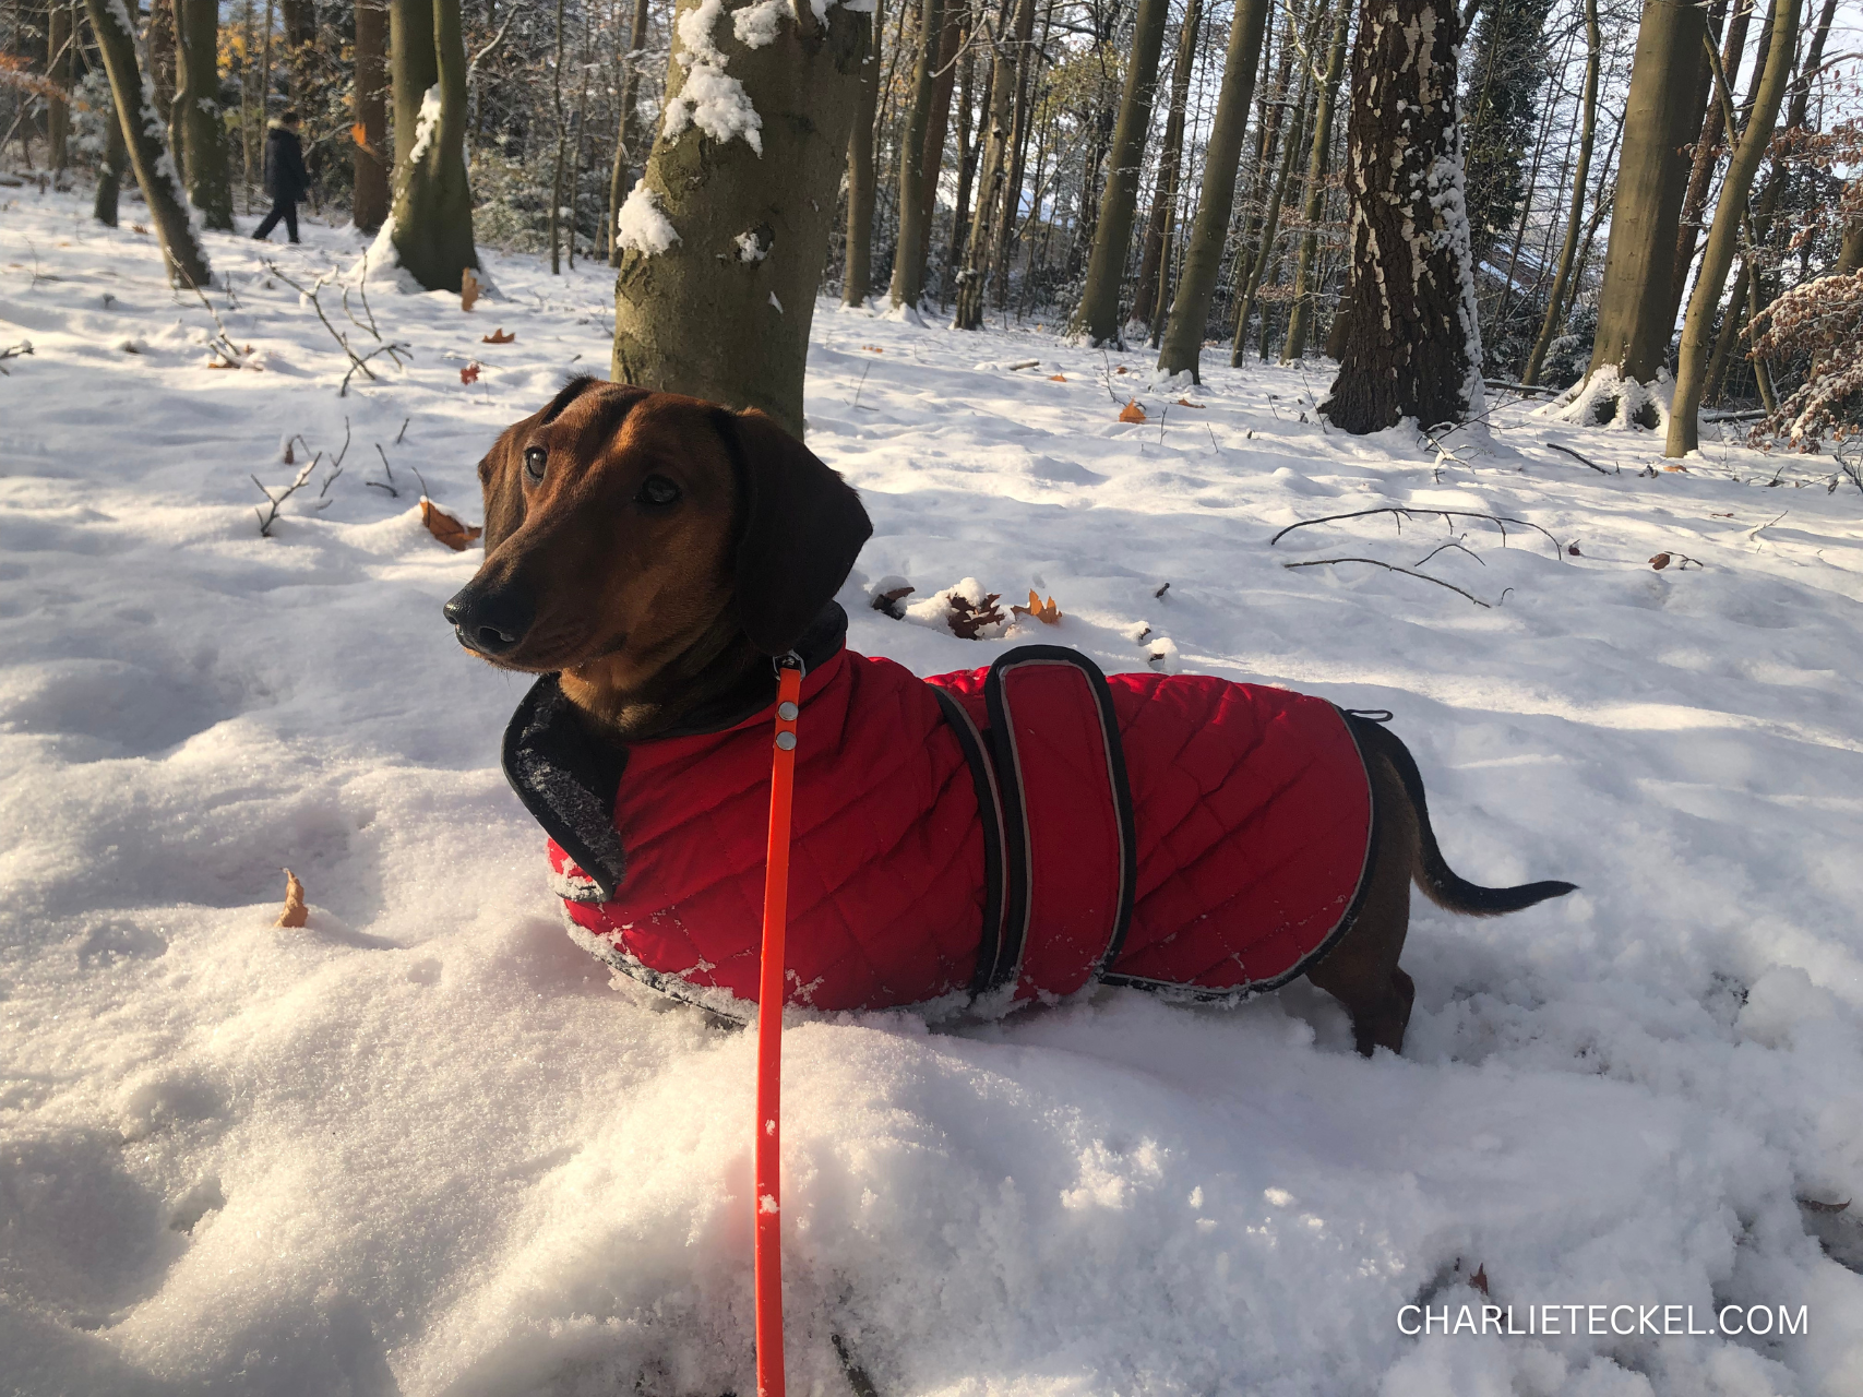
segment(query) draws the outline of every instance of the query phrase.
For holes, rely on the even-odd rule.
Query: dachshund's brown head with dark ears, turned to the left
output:
[[[501,669],[645,689],[700,637],[796,644],[872,533],[859,495],[760,412],[578,378],[479,462],[484,564],[447,602]]]

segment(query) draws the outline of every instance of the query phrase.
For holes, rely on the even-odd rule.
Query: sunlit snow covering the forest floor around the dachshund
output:
[[[0,348],[34,345],[0,378],[0,1388],[751,1391],[751,1043],[563,935],[497,771],[524,682],[455,644],[477,551],[414,514],[425,481],[477,520],[494,432],[605,369],[607,270],[492,257],[471,315],[374,283],[414,359],[339,397],[259,255],[311,278],[352,235],[209,238],[263,363],[227,371],[86,209],[0,203]],[[889,620],[885,574],[1036,589],[1066,620],[1027,639],[1105,669],[1390,708],[1459,872],[1584,890],[1418,900],[1401,1058],[1304,985],[799,1023],[792,1391],[846,1397],[831,1334],[881,1397],[1863,1391],[1863,490],[1733,445],[1639,473],[1649,434],[1522,406],[1438,460],[1325,432],[1319,365],[1224,359],[1174,406],[1144,354],[822,305],[809,438],[876,522],[855,648],[1027,637]],[[261,538],[287,438],[322,462]],[[1576,551],[1390,516],[1271,546],[1390,505]],[[1490,607],[1282,566],[1451,540],[1423,570]],[[1535,1334],[1401,1332],[1479,1319],[1475,1272]],[[1652,1332],[1723,1306],[1807,1332]]]

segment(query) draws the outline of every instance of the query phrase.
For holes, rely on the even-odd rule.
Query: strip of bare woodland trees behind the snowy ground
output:
[[[95,181],[104,224],[132,188],[177,278],[212,279],[190,220],[263,210],[291,108],[313,214],[388,227],[421,285],[456,289],[477,246],[609,261],[617,378],[788,421],[816,296],[1149,346],[1166,374],[1325,352],[1347,430],[1461,423],[1485,393],[1561,393],[1669,456],[1703,410],[1798,449],[1857,421],[1837,0],[0,15],[6,179]],[[796,313],[771,328],[769,302]]]

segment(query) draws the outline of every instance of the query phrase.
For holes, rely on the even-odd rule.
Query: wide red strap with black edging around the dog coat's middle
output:
[[[1008,872],[989,987],[1071,995],[1114,961],[1133,918],[1138,855],[1112,695],[1081,652],[1025,644],[989,667],[984,702]]]

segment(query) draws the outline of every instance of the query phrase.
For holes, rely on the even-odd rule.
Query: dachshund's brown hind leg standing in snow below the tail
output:
[[[1358,916],[1306,978],[1345,1006],[1353,1041],[1367,1058],[1375,1049],[1403,1052],[1416,985],[1401,969],[1410,931],[1410,875],[1418,859],[1416,810],[1390,762],[1373,758],[1371,803],[1377,836],[1369,885]]]

